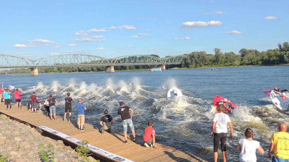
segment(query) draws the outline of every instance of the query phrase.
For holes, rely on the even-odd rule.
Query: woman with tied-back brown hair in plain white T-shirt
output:
[[[247,128],[245,131],[246,138],[241,138],[239,140],[237,151],[240,152],[240,162],[256,162],[256,151],[264,154],[264,150],[260,146],[258,141],[254,141],[252,138],[254,136],[253,130]]]

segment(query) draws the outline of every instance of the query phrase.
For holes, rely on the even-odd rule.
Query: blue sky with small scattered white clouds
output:
[[[288,26],[288,0],[0,0],[0,54],[262,52],[289,42]]]

